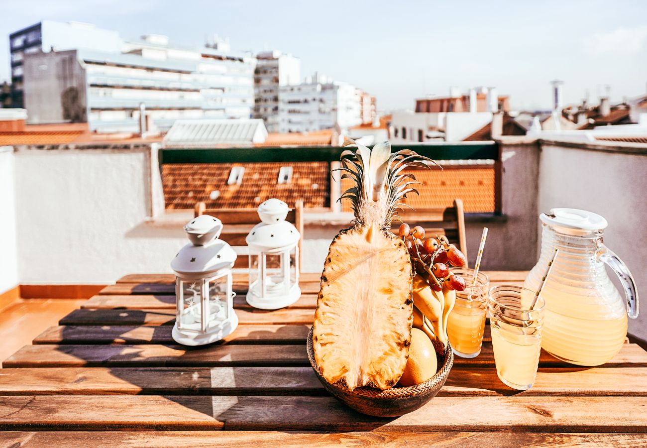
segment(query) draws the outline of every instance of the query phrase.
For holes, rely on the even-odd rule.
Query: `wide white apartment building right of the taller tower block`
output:
[[[314,74],[304,83],[280,87],[280,132],[342,129],[362,124],[362,91]]]

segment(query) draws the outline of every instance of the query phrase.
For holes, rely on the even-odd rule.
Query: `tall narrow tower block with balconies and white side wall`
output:
[[[278,132],[280,86],[301,82],[301,60],[278,50],[256,55],[254,118],[261,118],[269,132]]]

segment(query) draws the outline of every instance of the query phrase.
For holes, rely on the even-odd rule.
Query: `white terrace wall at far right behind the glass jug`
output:
[[[629,267],[642,299],[629,331],[647,339],[647,148],[544,141],[539,183],[540,210],[581,208],[607,219],[604,244]]]

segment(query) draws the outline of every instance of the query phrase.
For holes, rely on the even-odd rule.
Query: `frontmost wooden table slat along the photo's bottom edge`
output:
[[[35,431],[0,433],[0,444],[7,447],[69,448],[83,440],[83,446],[140,448],[213,448],[216,445],[237,448],[264,447],[400,447],[427,448],[643,448],[647,434],[586,434],[551,432],[426,432],[426,431]]]

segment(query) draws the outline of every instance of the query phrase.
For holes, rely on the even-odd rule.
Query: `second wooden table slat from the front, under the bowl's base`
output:
[[[399,418],[332,397],[5,396],[0,430],[647,432],[644,397],[436,397]]]

